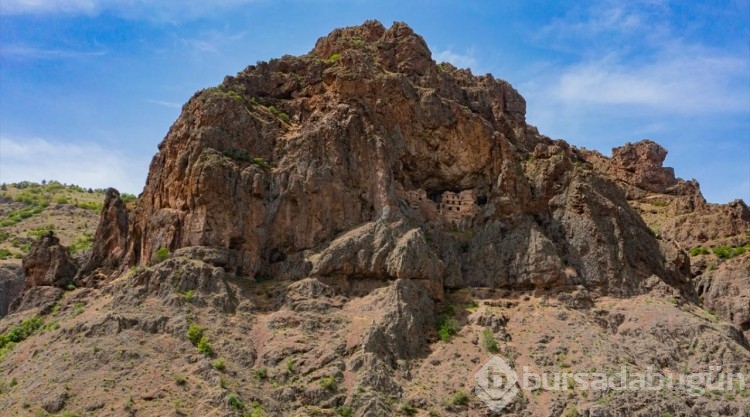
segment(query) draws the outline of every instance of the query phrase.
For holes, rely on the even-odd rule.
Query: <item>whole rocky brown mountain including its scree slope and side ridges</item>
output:
[[[197,92],[137,206],[108,191],[86,259],[71,270],[53,235],[35,243],[0,321],[0,406],[747,415],[739,380],[572,377],[748,375],[747,206],[707,204],[654,142],[605,157],[541,135],[525,106],[375,21]],[[493,355],[570,376],[519,381],[493,411],[475,379]]]

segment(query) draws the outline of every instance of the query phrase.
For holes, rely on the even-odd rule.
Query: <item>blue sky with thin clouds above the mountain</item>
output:
[[[650,138],[709,201],[750,202],[750,0],[3,0],[0,182],[137,194],[195,91],[367,19],[509,81],[543,134]]]

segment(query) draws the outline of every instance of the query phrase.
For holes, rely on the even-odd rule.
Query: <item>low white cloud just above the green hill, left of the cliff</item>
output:
[[[146,161],[93,143],[0,138],[0,182],[46,179],[138,194],[145,184],[146,169]]]

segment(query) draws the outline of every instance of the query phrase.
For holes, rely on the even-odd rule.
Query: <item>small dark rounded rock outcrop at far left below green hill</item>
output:
[[[64,288],[73,282],[78,265],[70,250],[60,244],[54,232],[42,235],[23,258],[25,289],[41,286]]]

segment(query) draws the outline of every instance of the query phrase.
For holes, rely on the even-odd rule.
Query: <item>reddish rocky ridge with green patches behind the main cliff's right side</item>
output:
[[[713,248],[739,248],[750,241],[745,202],[706,203],[697,181],[675,178],[672,169],[662,166],[666,150],[650,140],[615,148],[611,158],[590,151],[581,155],[595,171],[617,180],[629,204],[659,238],[669,269],[692,277],[703,306],[747,337],[750,257],[724,261],[712,254]]]

